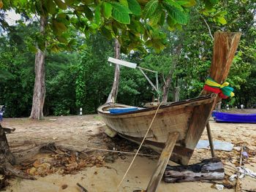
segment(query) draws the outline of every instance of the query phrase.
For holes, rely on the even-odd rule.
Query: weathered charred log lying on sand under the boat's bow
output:
[[[181,183],[197,180],[223,180],[225,172],[219,158],[208,158],[189,166],[167,166],[164,180],[167,183]]]

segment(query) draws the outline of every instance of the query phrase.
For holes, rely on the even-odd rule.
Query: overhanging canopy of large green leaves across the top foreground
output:
[[[217,0],[198,2],[207,14]],[[122,52],[128,53],[132,49],[145,50],[145,44],[162,50],[166,39],[159,28],[165,23],[172,30],[186,25],[189,9],[196,4],[195,0],[0,0],[0,9],[15,9],[25,18],[48,18],[47,36],[37,34],[40,49],[45,48],[44,41],[53,51],[72,48],[75,42],[68,29],[75,28],[86,37],[100,31],[108,39],[117,38]]]

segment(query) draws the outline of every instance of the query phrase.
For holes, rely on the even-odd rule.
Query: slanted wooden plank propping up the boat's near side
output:
[[[174,132],[170,133],[167,137],[167,141],[165,142],[165,147],[162,150],[159,161],[157,163],[157,168],[154,171],[154,174],[151,177],[151,180],[148,183],[148,188],[146,192],[155,192],[157,191],[157,186],[162,180],[162,175],[165,172],[165,167],[169,161],[170,155],[173,152],[173,148],[176,144],[176,140],[178,139],[179,133]]]

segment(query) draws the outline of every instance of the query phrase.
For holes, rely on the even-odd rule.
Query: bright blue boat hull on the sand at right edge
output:
[[[216,122],[227,123],[256,123],[256,114],[236,114],[228,112],[213,112]]]

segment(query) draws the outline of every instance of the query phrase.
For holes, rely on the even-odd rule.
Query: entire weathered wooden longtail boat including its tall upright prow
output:
[[[209,74],[218,83],[223,83],[227,78],[240,36],[238,33],[214,34],[214,54]],[[158,110],[157,107],[150,107],[116,114],[110,113],[109,110],[131,106],[108,103],[99,107],[98,113],[108,128],[116,131],[121,137],[138,143],[143,140],[156,114],[143,145],[157,152],[161,152],[166,145],[173,145],[168,150],[169,158],[178,164],[186,165],[220,99],[216,93],[207,91],[202,91],[200,95],[195,99],[164,104]]]

